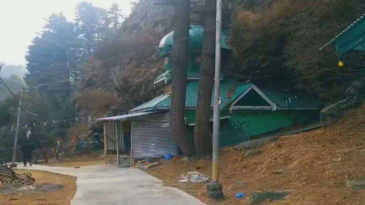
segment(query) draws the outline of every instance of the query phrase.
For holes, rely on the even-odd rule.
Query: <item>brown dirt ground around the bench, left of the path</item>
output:
[[[63,185],[63,189],[57,191],[16,191],[12,193],[0,193],[1,205],[69,205],[76,192],[76,177],[55,174],[46,171],[15,170],[16,173],[31,173],[35,178],[35,185],[42,183],[55,183]],[[2,186],[0,184],[0,186]]]

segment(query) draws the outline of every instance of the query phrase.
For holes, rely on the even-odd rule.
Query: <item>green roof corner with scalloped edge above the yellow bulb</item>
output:
[[[322,50],[333,42],[336,45],[338,55],[342,55],[351,49],[365,50],[365,13],[319,50]]]

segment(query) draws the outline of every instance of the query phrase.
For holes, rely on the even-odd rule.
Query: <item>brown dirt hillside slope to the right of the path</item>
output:
[[[345,186],[346,179],[365,180],[365,105],[349,111],[339,122],[310,132],[284,136],[277,142],[259,148],[261,154],[241,159],[241,153],[224,148],[220,154],[220,182],[226,190],[235,181],[246,186],[224,192],[223,201],[207,198],[205,184],[177,182],[181,174],[198,171],[211,175],[211,161],[184,162],[179,159],[162,161],[162,165],[147,170],[207,204],[249,204],[253,192],[295,190],[285,200],[270,204],[285,205],[360,205],[365,191]],[[280,171],[278,171],[280,170]],[[237,201],[235,194],[245,198]]]

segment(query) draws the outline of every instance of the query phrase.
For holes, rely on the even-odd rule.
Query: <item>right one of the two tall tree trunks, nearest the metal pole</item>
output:
[[[198,156],[212,154],[209,116],[214,84],[216,0],[205,0],[203,51],[199,74],[198,104],[195,115],[194,144]]]

